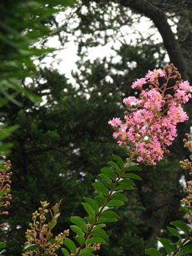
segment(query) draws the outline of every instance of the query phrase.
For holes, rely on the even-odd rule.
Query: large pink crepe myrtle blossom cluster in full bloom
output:
[[[108,123],[115,130],[113,138],[126,147],[129,157],[155,165],[169,152],[167,147],[177,136],[176,125],[188,120],[181,104],[191,98],[192,88],[173,64],[149,70],[132,88],[141,91],[140,99],[125,98],[124,120],[113,118]]]

